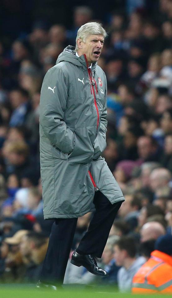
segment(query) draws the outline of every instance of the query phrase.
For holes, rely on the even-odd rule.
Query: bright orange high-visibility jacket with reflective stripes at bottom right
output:
[[[132,293],[172,293],[172,257],[159,250],[151,253],[132,280]]]

